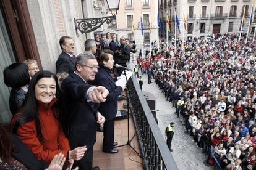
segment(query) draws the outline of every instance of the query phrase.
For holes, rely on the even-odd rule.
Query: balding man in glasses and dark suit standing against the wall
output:
[[[61,54],[56,61],[56,73],[74,73],[75,71],[75,44],[71,37],[62,36],[59,39],[59,46],[61,46]]]

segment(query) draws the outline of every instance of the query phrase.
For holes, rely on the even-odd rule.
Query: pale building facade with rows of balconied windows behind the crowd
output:
[[[252,7],[253,22],[250,26],[250,35],[255,30],[255,0],[159,0],[159,14],[163,27],[160,37],[166,38],[166,13],[171,23],[168,39],[173,38],[175,33],[176,38],[184,40],[213,34],[239,33],[241,27],[242,33],[247,33]],[[174,30],[175,12],[180,23],[180,33],[177,26]]]

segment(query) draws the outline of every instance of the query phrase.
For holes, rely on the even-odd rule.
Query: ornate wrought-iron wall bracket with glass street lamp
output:
[[[108,4],[108,9],[111,11],[112,16],[101,17],[101,18],[87,18],[87,19],[75,19],[75,30],[79,30],[83,33],[90,33],[94,30],[100,28],[103,23],[108,25],[111,21],[116,20],[117,10],[119,9],[120,0],[106,0]],[[115,13],[113,13],[115,12]]]

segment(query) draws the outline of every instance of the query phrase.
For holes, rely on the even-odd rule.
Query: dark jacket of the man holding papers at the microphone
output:
[[[114,79],[109,75],[109,68],[101,66],[95,76],[94,84],[104,86],[108,89],[109,94],[106,97],[106,102],[100,103],[98,111],[105,116],[106,120],[111,120],[116,117],[117,112],[117,97],[121,95],[122,87],[116,86]]]

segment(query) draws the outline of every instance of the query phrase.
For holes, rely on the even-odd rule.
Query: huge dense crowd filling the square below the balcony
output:
[[[137,64],[149,84],[155,76],[202,153],[212,152],[223,169],[255,169],[256,43],[238,39],[229,33],[177,42]]]

